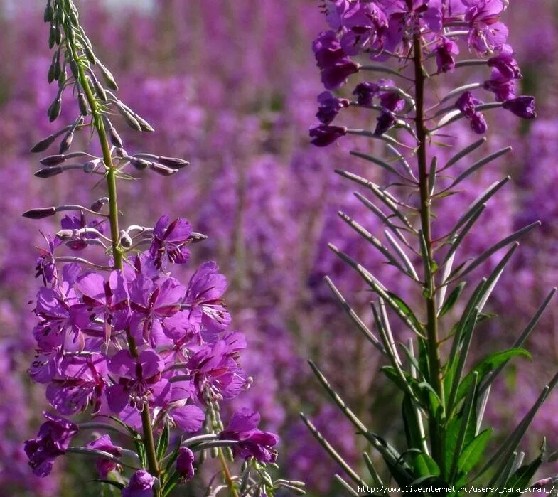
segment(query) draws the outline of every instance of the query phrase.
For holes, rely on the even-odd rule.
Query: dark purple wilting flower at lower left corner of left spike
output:
[[[53,469],[56,457],[65,454],[72,437],[77,433],[77,424],[68,419],[43,412],[47,419],[41,424],[37,438],[26,440],[23,448],[29,458],[29,466],[37,476],[47,476]]]

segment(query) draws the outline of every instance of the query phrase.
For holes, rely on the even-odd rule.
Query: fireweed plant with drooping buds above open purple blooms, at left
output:
[[[23,214],[70,213],[58,233],[44,235],[36,266],[42,286],[34,302],[37,354],[29,373],[47,385],[55,412],[44,412],[38,436],[25,442],[33,472],[46,476],[58,456],[80,454],[95,462],[97,484],[124,497],[164,497],[193,479],[210,456],[220,470],[205,495],[272,496],[278,488],[304,493],[300,482],[269,475],[278,438],[257,428],[257,412],[240,408],[222,424],[220,403],[252,383],[240,363],[245,338],[229,328],[225,276],[215,262],[201,264],[187,285],[171,276],[173,264],[188,262],[188,246],[205,236],[187,220],[166,215],[153,228],[119,226],[117,180],[132,179],[127,170],[173,176],[188,162],[130,156],[114,116],[137,132],[154,129],[116,96],[117,83],[95,55],[71,0],[48,0],[44,20],[55,48],[48,81],[58,82],[48,117],[59,117],[65,90],[77,100],[78,115],[33,147],[43,152],[60,139],[58,153],[41,160],[36,176],[81,171],[106,185],[107,195],[90,207]],[[98,139],[100,156],[70,151],[80,132]],[[60,255],[64,247],[73,253]],[[82,255],[94,250],[100,253]],[[68,419],[73,415],[85,421]],[[93,439],[81,437],[88,433]],[[228,467],[233,459],[243,461],[238,476]]]

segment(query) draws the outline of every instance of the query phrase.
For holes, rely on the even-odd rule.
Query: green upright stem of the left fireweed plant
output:
[[[80,63],[79,58],[77,58],[77,53],[73,43],[70,43],[71,35],[68,36],[68,28],[66,29],[66,38],[68,39],[68,47],[71,50],[71,55],[73,60],[77,63],[77,68],[79,71],[80,86],[85,92],[85,97],[89,103],[92,115],[92,123],[99,137],[99,142],[102,149],[102,159],[104,166],[107,169],[107,193],[109,197],[109,223],[110,223],[110,237],[112,242],[112,257],[114,258],[114,269],[123,269],[122,265],[122,249],[119,245],[119,228],[118,228],[118,199],[117,199],[117,168],[112,162],[112,154],[110,152],[110,144],[107,138],[107,132],[104,129],[104,123],[102,120],[102,114],[100,112],[100,107],[97,103],[97,99],[93,95],[91,88],[87,84],[85,79],[85,70]],[[135,358],[138,356],[138,349],[136,346],[136,341],[127,331],[128,336],[128,346],[129,351]],[[151,416],[149,415],[149,405],[144,405],[141,411],[141,425],[144,432],[144,445],[147,456],[147,464],[149,473],[153,476],[159,477],[161,471],[159,470],[159,463],[157,461],[155,441],[153,436],[153,429],[151,427]],[[159,490],[154,490],[154,497],[159,497],[161,492]]]

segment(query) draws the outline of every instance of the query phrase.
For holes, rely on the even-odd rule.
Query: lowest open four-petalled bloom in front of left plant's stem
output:
[[[121,412],[127,405],[143,409],[144,405],[163,405],[171,392],[166,378],[161,378],[165,363],[150,349],[134,358],[129,351],[118,351],[109,362],[109,371],[119,376],[107,388],[107,403],[112,412]]]

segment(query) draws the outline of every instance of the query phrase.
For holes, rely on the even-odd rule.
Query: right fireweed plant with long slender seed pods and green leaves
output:
[[[340,212],[340,217],[379,250],[402,278],[411,279],[422,294],[422,306],[412,309],[397,295],[397,289],[388,289],[357,260],[330,246],[375,294],[370,304],[375,321],[372,331],[334,282],[326,280],[358,330],[385,357],[388,365],[382,370],[402,393],[406,440],[405,447],[394,447],[372,432],[311,363],[321,385],[379,457],[376,460],[368,451],[363,454],[363,467],[370,476],[361,476],[359,469],[338,454],[335,441],[326,440],[302,415],[316,439],[345,472],[346,478],[336,478],[349,495],[372,492],[387,496],[392,491],[397,493],[395,488],[417,495],[458,495],[466,491],[460,488],[468,487],[469,492],[484,496],[507,488],[503,493],[515,496],[530,487],[542,462],[556,459],[547,455],[543,442],[540,455],[524,463],[525,454],[518,447],[535,413],[558,382],[558,375],[549,380],[535,405],[494,451],[488,449],[493,428],[483,427],[490,386],[508,361],[529,356],[522,346],[555,289],[510,348],[488,353],[472,368],[467,361],[475,329],[491,317],[485,305],[517,249],[517,240],[540,223],[517,230],[473,260],[459,259],[468,232],[482,223],[490,198],[509,180],[503,178],[476,198],[448,233],[433,236],[436,218],[444,216],[444,198],[458,195],[464,179],[511,150],[506,147],[463,166],[485,144],[485,137],[481,137],[439,164],[436,150],[452,146],[450,125],[466,119],[471,132],[485,134],[485,111],[503,109],[523,119],[535,117],[533,97],[516,95],[521,72],[513,49],[506,43],[508,28],[500,21],[507,7],[508,1],[503,0],[335,0],[324,4],[330,29],[313,42],[313,52],[326,91],[318,95],[316,117],[321,124],[311,127],[312,142],[328,146],[353,134],[385,146],[385,159],[360,151],[351,154],[385,169],[394,178],[390,185],[380,186],[349,171],[336,171],[365,188],[369,195],[355,195],[371,215],[382,220],[385,241],[345,213]],[[457,60],[460,53],[467,53],[469,58]],[[445,95],[435,91],[446,73],[471,66],[485,66],[487,79],[456,87]],[[353,75],[367,78],[374,73],[385,73],[390,79],[363,78],[356,85],[352,82],[345,98],[331,93],[346,85]],[[495,102],[484,103],[481,98],[487,95]],[[337,114],[351,108],[376,112],[375,126],[369,130],[332,124]],[[502,255],[502,250],[503,257],[465,299],[463,289],[467,284],[471,287],[473,271],[497,252]],[[460,316],[452,319],[460,306]],[[397,343],[392,333],[393,319],[401,321],[414,338]],[[381,460],[389,479],[380,476],[382,470],[377,464]],[[550,481],[544,479],[535,486]]]

